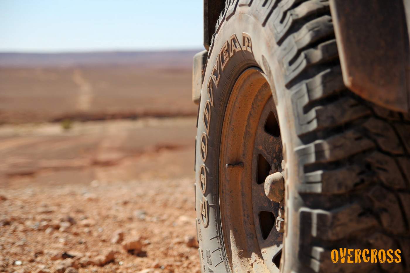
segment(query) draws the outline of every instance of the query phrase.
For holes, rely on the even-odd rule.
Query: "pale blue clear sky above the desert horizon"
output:
[[[202,0],[0,0],[0,51],[203,48]]]

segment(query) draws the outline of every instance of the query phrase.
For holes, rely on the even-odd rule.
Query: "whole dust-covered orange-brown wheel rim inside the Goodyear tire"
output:
[[[279,272],[283,233],[275,219],[280,204],[266,197],[264,180],[282,171],[281,162],[271,87],[259,68],[248,68],[230,94],[219,159],[221,223],[232,271]]]

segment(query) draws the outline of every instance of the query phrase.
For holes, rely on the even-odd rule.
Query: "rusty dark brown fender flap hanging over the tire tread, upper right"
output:
[[[410,109],[408,6],[403,0],[330,0],[344,83],[401,112]]]

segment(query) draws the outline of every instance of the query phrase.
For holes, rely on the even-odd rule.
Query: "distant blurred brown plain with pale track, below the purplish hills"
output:
[[[192,69],[0,68],[0,124],[196,116]]]

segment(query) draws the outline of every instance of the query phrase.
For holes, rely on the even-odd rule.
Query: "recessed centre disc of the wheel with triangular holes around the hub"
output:
[[[283,233],[278,232],[275,221],[280,204],[271,201],[264,192],[265,178],[281,172],[282,140],[278,114],[273,99],[266,102],[257,126],[252,158],[252,205],[259,247],[265,263],[279,268]]]

